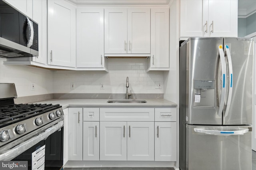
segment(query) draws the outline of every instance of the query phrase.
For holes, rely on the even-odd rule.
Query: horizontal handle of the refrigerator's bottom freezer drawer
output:
[[[218,136],[230,136],[230,135],[243,135],[249,131],[248,128],[246,129],[240,129],[240,130],[234,130],[234,131],[222,131],[222,130],[205,130],[200,128],[194,128],[195,132],[198,133],[205,133],[205,134],[211,134],[211,135],[218,135]]]

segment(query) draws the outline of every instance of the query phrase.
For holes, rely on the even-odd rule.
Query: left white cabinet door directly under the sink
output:
[[[126,122],[100,122],[100,160],[127,160]]]

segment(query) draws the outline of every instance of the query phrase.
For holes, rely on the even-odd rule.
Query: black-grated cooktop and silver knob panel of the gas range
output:
[[[0,107],[0,147],[63,115],[60,105],[13,104]]]

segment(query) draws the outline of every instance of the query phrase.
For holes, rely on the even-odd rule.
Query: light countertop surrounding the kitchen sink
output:
[[[36,103],[60,104],[62,109],[68,107],[177,107],[176,103],[166,99],[141,99],[147,103],[107,103],[113,99],[50,99]]]

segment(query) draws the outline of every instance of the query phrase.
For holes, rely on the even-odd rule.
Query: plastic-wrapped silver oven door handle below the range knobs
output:
[[[64,122],[59,121],[56,125],[53,125],[52,127],[47,128],[44,132],[38,134],[37,136],[34,136],[25,142],[22,142],[21,144],[18,144],[14,148],[11,148],[9,150],[4,151],[2,154],[0,154],[0,160],[12,160],[16,156],[22,154],[24,151],[28,150],[31,146],[37,144],[41,140],[45,140],[56,132],[58,129],[63,127]]]

